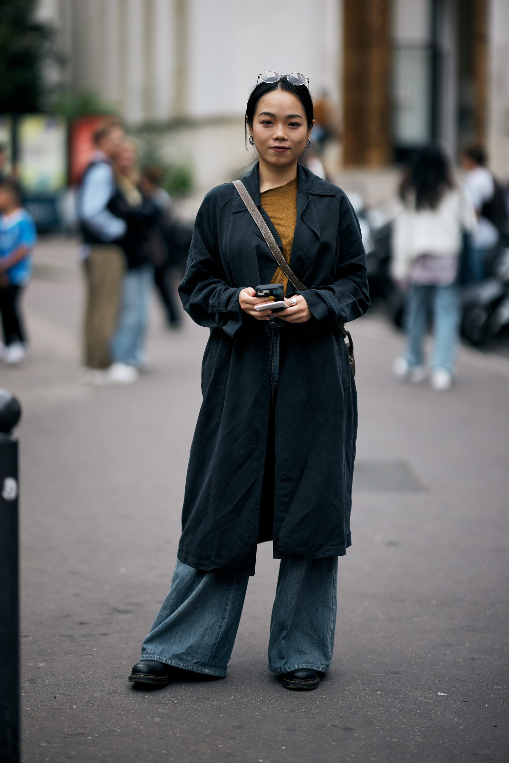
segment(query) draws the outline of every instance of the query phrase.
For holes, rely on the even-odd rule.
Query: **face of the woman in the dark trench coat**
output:
[[[312,125],[311,125],[312,127]],[[311,134],[301,101],[288,90],[272,90],[256,104],[253,126],[259,158],[272,166],[288,166],[297,161]]]

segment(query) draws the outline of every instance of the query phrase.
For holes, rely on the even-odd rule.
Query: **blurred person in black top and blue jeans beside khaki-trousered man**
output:
[[[118,326],[111,340],[115,362],[127,365],[138,373],[147,365],[144,344],[150,313],[153,267],[147,249],[150,227],[156,224],[157,211],[138,188],[137,146],[124,140],[115,159],[118,193],[112,209],[124,218],[127,231],[122,242],[127,257],[127,270],[122,283],[121,311]]]

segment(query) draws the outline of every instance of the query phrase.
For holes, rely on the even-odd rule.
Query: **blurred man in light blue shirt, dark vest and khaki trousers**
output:
[[[87,284],[83,381],[91,384],[130,384],[137,379],[136,369],[113,362],[110,349],[126,267],[121,241],[127,223],[111,211],[111,201],[117,194],[112,161],[123,140],[124,130],[118,121],[95,131],[97,150],[85,169],[77,200]]]

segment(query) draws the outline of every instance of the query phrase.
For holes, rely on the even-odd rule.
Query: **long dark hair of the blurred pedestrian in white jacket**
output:
[[[417,153],[401,183],[400,195],[403,201],[414,195],[416,209],[436,209],[453,186],[451,163],[443,148],[432,143]]]

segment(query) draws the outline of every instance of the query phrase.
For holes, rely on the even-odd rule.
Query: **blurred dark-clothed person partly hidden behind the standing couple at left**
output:
[[[180,326],[179,307],[169,283],[170,271],[176,264],[172,257],[172,227],[175,214],[171,196],[160,185],[163,176],[163,167],[156,165],[143,167],[140,188],[143,195],[150,198],[156,206],[157,221],[150,231],[147,246],[154,269],[154,282],[166,312],[166,323],[169,328],[177,329]]]

